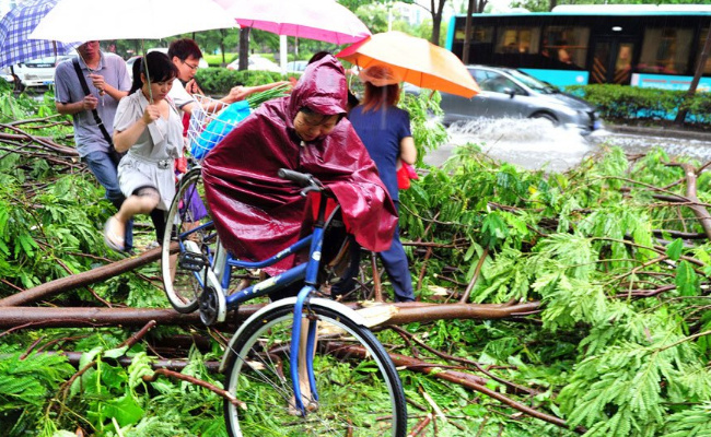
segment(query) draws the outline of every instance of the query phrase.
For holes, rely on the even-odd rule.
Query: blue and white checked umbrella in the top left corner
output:
[[[27,38],[55,4],[57,0],[31,0],[14,7],[2,17],[0,68],[47,56],[69,55],[82,44]]]

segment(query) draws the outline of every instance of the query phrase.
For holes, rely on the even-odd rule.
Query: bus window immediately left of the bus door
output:
[[[547,26],[544,29],[543,56],[556,64],[582,68],[587,57],[590,27]]]

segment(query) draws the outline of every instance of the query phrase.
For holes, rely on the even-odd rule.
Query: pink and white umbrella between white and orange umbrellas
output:
[[[215,0],[243,27],[334,44],[371,35],[362,21],[335,0]]]

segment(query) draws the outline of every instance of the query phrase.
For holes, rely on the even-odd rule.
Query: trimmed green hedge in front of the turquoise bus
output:
[[[685,102],[686,91],[625,85],[576,85],[566,90],[597,106],[603,119],[674,120],[686,105],[685,122],[711,126],[711,95],[707,92],[697,92]]]

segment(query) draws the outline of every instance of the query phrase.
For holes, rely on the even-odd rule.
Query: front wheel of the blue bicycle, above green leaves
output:
[[[301,385],[307,414],[293,408],[289,359],[293,305],[276,306],[241,328],[228,353],[225,388],[246,410],[224,403],[232,437],[403,437],[407,406],[387,352],[366,328],[312,299],[302,324],[317,322],[314,376],[318,400]]]

